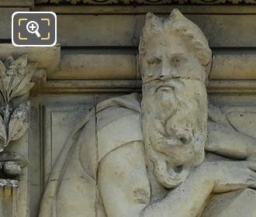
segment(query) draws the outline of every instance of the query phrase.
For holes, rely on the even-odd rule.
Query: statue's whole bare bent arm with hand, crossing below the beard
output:
[[[253,162],[204,162],[184,183],[150,203],[142,144],[133,142],[109,153],[99,167],[99,191],[108,217],[195,217],[211,192],[255,188]]]

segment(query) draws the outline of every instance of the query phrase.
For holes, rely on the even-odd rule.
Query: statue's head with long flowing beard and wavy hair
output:
[[[147,157],[157,181],[174,188],[204,158],[212,53],[199,27],[177,9],[168,19],[147,14],[139,49]]]

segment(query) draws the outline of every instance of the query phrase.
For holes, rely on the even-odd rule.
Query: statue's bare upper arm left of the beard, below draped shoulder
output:
[[[150,203],[143,144],[126,143],[108,153],[100,162],[98,182],[106,216],[139,216]]]

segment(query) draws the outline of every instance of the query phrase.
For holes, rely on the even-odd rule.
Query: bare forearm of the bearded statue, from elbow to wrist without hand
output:
[[[202,212],[214,182],[206,178],[204,171],[199,169],[192,172],[188,179],[170,191],[161,201],[145,208],[139,216],[143,217],[195,217]]]

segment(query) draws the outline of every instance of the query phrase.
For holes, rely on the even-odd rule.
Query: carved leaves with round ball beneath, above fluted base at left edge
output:
[[[21,167],[27,164],[25,157],[7,152],[5,148],[11,141],[19,140],[29,128],[28,96],[36,68],[36,63],[28,62],[27,54],[0,61],[0,183],[17,177]]]

